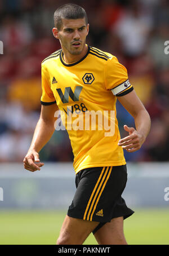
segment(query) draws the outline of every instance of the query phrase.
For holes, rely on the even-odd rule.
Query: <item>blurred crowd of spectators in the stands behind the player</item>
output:
[[[169,1],[2,0],[0,2],[0,162],[20,162],[41,111],[41,61],[60,48],[52,36],[53,15],[64,3],[84,7],[88,45],[117,56],[152,119],[143,147],[127,161],[169,161]],[[121,136],[134,119],[117,101]],[[73,161],[66,131],[55,131],[42,161]]]

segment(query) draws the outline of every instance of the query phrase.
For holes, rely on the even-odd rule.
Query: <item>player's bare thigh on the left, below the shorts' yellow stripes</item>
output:
[[[98,224],[66,215],[57,244],[82,245]]]

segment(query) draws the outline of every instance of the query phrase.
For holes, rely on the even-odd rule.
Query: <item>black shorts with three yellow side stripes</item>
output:
[[[126,165],[92,167],[75,176],[75,192],[68,216],[100,222],[95,233],[116,217],[126,219],[134,213],[121,197],[127,182]]]

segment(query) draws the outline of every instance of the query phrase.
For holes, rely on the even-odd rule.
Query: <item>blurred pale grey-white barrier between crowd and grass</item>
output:
[[[169,163],[128,163],[123,198],[129,207],[169,206]],[[34,173],[23,164],[0,165],[0,209],[66,209],[75,192],[72,163],[45,163]],[[166,200],[167,198],[167,200]]]

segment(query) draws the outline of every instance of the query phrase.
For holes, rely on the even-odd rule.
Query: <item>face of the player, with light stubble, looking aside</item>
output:
[[[79,55],[84,50],[89,24],[85,19],[62,19],[60,30],[53,29],[54,37],[58,38],[61,47],[69,54]]]

